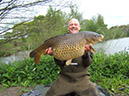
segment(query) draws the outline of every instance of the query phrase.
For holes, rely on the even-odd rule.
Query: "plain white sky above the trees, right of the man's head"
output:
[[[79,11],[84,19],[101,14],[108,28],[129,24],[129,0],[79,0]]]

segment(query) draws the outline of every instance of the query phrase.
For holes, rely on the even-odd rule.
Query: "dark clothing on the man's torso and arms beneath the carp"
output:
[[[93,58],[93,53],[89,51],[88,53],[85,53],[82,57],[73,59],[72,64],[75,64],[75,65],[67,66],[65,64],[66,61],[60,61],[57,59],[54,59],[54,60],[55,60],[55,63],[61,69],[61,72],[60,72],[61,76],[63,76],[66,80],[76,81],[84,76],[90,76],[90,74],[88,73],[88,69],[89,69],[89,65],[92,62],[92,58]]]

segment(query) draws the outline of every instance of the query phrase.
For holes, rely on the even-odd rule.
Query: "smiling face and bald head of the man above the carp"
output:
[[[69,25],[68,25],[69,33],[78,33],[80,29],[81,29],[81,26],[79,25],[79,22],[77,20],[69,21]]]

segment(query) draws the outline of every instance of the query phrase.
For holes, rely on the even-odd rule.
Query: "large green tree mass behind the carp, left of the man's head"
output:
[[[41,45],[46,39],[64,34],[67,31],[65,13],[51,6],[47,14],[34,17],[33,21],[21,24],[13,28],[12,32],[5,33],[5,39],[1,40],[2,44],[11,44],[15,51],[30,50]],[[19,46],[22,49],[19,49]],[[18,48],[18,49],[17,49]],[[11,48],[10,48],[11,50]]]

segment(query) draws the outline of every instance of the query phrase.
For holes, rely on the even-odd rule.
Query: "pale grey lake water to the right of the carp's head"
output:
[[[107,55],[115,54],[120,51],[129,52],[129,37],[109,40],[103,43],[96,43],[93,47],[96,51],[104,51]]]

